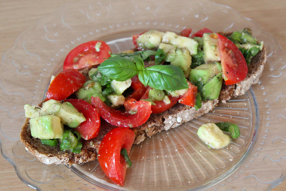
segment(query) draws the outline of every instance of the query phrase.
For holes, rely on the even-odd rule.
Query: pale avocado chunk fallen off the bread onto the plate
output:
[[[199,127],[197,135],[215,149],[223,148],[230,143],[229,135],[224,134],[214,123],[203,124]]]

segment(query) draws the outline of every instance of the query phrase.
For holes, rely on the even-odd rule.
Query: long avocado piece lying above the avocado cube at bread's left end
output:
[[[43,103],[40,116],[44,115],[56,115],[63,125],[71,128],[78,127],[83,121],[86,121],[83,114],[78,112],[71,103],[60,103],[53,99]]]

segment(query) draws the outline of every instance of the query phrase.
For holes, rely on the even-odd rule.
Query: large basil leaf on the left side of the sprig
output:
[[[138,72],[134,62],[121,56],[114,56],[103,61],[97,69],[102,74],[116,81],[128,80]]]

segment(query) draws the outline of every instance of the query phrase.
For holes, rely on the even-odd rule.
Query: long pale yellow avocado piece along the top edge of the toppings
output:
[[[198,42],[192,38],[177,35],[167,31],[162,37],[162,43],[172,44],[180,48],[186,48],[191,55],[196,55],[198,51]]]

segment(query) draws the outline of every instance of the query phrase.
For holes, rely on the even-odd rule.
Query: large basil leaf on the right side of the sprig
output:
[[[175,91],[189,87],[183,71],[174,65],[150,66],[139,72],[138,77],[142,84],[158,90]]]

